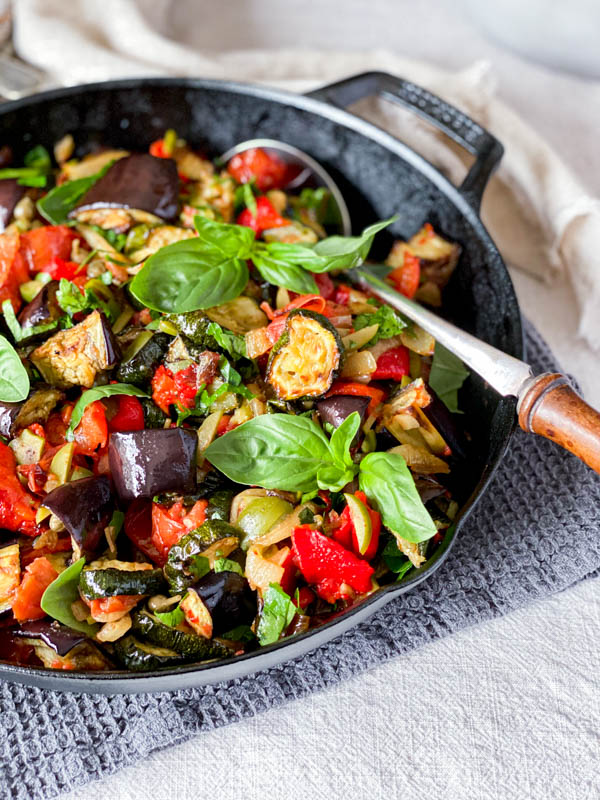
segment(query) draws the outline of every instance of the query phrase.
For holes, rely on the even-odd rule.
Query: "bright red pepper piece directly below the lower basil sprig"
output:
[[[294,559],[306,582],[315,586],[317,594],[331,603],[344,597],[342,584],[358,594],[371,589],[374,569],[357,558],[339,542],[308,526],[294,528]]]

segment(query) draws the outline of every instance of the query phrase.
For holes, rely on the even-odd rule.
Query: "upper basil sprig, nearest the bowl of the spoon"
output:
[[[150,256],[131,282],[131,292],[155,311],[180,314],[211,308],[241,294],[248,282],[248,260],[270,283],[301,294],[316,292],[310,272],[361,264],[375,234],[395,219],[370,225],[360,236],[331,236],[308,247],[257,242],[251,228],[197,216],[198,238],[174,242]]]

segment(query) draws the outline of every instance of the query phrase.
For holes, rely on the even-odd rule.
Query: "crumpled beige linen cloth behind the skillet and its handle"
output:
[[[351,74],[383,70],[427,87],[503,143],[505,155],[483,204],[484,222],[512,266],[544,281],[568,277],[579,304],[579,333],[600,347],[600,200],[587,194],[547,142],[495,96],[487,62],[448,72],[382,50],[198,52],[160,32],[169,31],[174,4],[183,1],[17,0],[16,49],[58,84],[180,75],[306,91]],[[210,24],[220,2],[188,3],[190,24]],[[406,141],[455,182],[464,176],[457,148],[414,115],[378,99],[352,110]]]

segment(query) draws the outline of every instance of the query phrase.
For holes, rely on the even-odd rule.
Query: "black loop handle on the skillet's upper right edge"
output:
[[[488,179],[502,158],[504,148],[491,133],[462,111],[427,89],[386,72],[364,72],[315,89],[307,96],[346,108],[370,95],[379,95],[412,109],[475,156],[459,190],[478,210]]]

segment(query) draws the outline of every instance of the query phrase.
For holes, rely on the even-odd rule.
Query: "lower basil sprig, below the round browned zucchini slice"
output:
[[[397,453],[369,453],[354,463],[350,446],[358,431],[357,412],[328,440],[307,417],[266,414],[216,439],[205,458],[237,483],[265,489],[340,491],[358,473],[361,490],[396,536],[422,542],[437,529],[416,489],[406,461]]]

